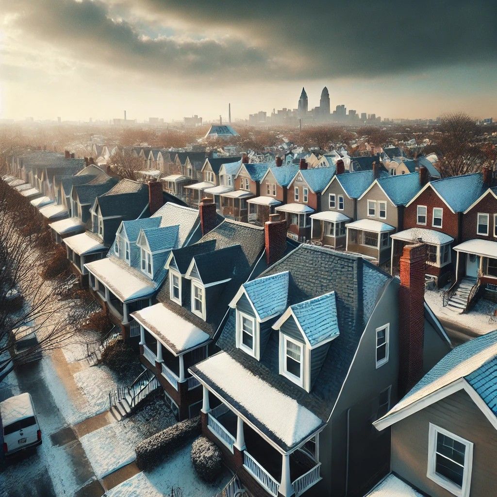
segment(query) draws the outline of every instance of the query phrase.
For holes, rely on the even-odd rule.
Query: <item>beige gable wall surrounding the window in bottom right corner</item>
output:
[[[392,426],[392,471],[432,497],[453,497],[426,476],[429,423],[473,442],[470,497],[496,495],[497,431],[469,395],[456,392]]]

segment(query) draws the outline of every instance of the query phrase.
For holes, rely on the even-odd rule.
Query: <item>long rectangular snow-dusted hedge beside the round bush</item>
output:
[[[135,448],[137,466],[143,471],[153,469],[168,455],[200,435],[200,429],[200,416],[197,416],[173,424],[141,441]]]

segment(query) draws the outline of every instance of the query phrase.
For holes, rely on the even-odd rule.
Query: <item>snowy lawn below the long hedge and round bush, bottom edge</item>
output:
[[[214,484],[202,481],[190,458],[191,444],[183,447],[153,471],[138,473],[108,491],[106,497],[163,497],[180,488],[184,497],[212,497],[221,492],[231,479],[228,471]]]

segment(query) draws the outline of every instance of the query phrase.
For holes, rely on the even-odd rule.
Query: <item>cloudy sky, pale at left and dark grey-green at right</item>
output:
[[[0,118],[497,117],[495,0],[0,0]]]

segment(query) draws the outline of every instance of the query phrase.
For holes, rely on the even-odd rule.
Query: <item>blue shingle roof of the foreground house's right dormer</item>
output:
[[[339,335],[335,292],[290,306],[311,346]]]

